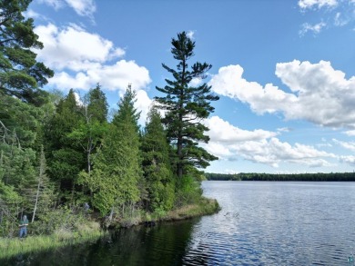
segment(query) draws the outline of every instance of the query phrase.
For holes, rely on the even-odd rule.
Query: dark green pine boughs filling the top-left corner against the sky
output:
[[[31,0],[0,1],[0,96],[12,95],[28,103],[40,104],[53,71],[36,62],[31,49],[42,49],[34,33],[34,20],[22,15]]]

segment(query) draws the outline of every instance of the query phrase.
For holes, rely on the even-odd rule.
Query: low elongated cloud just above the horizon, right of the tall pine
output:
[[[300,163],[309,167],[330,166],[324,158],[335,157],[332,153],[319,151],[312,146],[282,143],[278,133],[264,130],[247,131],[223,121],[218,116],[208,118],[210,141],[204,144],[208,153],[222,160],[236,161],[238,158],[254,163],[278,167],[279,163]]]

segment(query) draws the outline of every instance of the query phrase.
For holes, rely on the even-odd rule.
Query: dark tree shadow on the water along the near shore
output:
[[[198,221],[120,229],[94,242],[55,251],[19,254],[0,260],[0,265],[182,265],[194,224]]]

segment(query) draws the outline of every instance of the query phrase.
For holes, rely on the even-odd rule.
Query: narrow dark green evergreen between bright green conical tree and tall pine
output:
[[[143,169],[147,180],[148,208],[151,211],[172,208],[175,183],[169,161],[169,146],[161,117],[153,106],[142,140]]]

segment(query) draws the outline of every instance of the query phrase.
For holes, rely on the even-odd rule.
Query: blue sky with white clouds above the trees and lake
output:
[[[194,84],[220,97],[206,172],[355,170],[355,0],[34,0],[24,15],[56,73],[46,90],[99,83],[117,109],[131,84],[142,125],[187,32],[190,65],[212,64]]]

